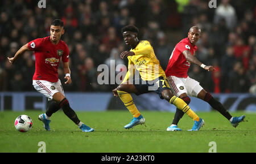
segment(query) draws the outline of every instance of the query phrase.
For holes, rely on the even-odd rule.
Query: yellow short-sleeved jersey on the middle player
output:
[[[135,55],[127,57],[129,60],[128,71],[122,83],[129,81],[131,76],[134,76],[135,69],[139,71],[144,81],[155,80],[160,76],[166,77],[150,42],[146,40],[139,41],[136,48],[130,51],[133,51]]]

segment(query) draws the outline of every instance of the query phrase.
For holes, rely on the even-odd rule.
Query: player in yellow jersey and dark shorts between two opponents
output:
[[[122,28],[123,40],[131,47],[130,51],[123,51],[122,59],[129,61],[128,71],[122,83],[113,90],[114,96],[119,96],[127,109],[133,114],[133,119],[125,126],[126,129],[143,124],[145,119],[134,105],[130,93],[137,95],[156,92],[161,99],[174,104],[194,120],[194,125],[189,131],[198,131],[204,125],[204,120],[197,116],[181,98],[172,94],[166,75],[155,56],[154,50],[148,41],[138,40],[138,28],[126,25]],[[135,69],[139,72],[139,80],[133,78]]]

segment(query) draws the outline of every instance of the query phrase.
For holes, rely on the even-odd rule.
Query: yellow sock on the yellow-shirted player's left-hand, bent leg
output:
[[[133,114],[134,117],[137,118],[139,115],[141,115],[141,113],[139,113],[137,107],[133,103],[133,98],[131,97],[131,94],[120,90],[117,90],[117,93],[122,102],[125,104],[127,109],[130,111],[131,114]]]

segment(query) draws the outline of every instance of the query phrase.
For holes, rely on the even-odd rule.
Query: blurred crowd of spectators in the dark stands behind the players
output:
[[[53,19],[64,21],[61,37],[70,53],[73,83],[65,92],[109,92],[117,84],[100,85],[97,67],[110,60],[127,65],[119,58],[129,50],[123,42],[121,28],[134,24],[139,28],[139,40],[148,40],[162,67],[177,42],[187,37],[188,29],[201,28],[196,57],[216,71],[210,73],[191,64],[188,75],[212,93],[256,92],[256,42],[254,0],[217,1],[209,8],[205,0],[64,0],[46,1],[39,8],[35,0],[0,2],[0,91],[35,91],[32,76],[35,57],[27,51],[15,64],[13,57],[22,45],[50,35]],[[60,64],[59,77],[64,81]]]

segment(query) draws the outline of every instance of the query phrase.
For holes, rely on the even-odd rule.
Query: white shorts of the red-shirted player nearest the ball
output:
[[[57,92],[60,92],[65,96],[60,79],[56,83],[46,80],[33,80],[33,86],[38,92],[46,96],[48,100],[52,100],[53,94]]]

